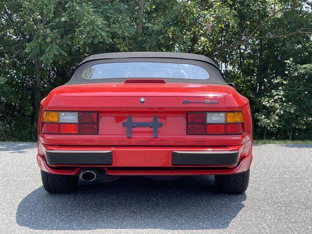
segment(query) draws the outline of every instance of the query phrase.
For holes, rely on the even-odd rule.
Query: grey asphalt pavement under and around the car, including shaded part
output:
[[[312,233],[312,145],[256,145],[245,194],[213,176],[121,177],[44,191],[35,143],[0,142],[0,234]]]

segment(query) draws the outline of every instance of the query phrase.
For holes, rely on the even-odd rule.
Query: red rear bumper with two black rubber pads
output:
[[[102,167],[110,175],[220,175],[247,171],[252,155],[244,145],[218,147],[51,146],[39,142],[41,170],[78,175]]]

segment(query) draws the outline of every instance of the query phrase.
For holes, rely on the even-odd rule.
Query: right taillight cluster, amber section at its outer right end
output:
[[[187,135],[238,135],[245,133],[244,116],[233,112],[188,112]]]

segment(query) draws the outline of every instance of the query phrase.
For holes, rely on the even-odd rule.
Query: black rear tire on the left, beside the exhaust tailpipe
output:
[[[55,175],[41,171],[41,180],[45,191],[52,194],[70,193],[78,186],[78,176]]]

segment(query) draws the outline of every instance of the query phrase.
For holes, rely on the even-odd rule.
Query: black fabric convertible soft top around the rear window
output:
[[[215,62],[203,55],[172,52],[117,52],[104,53],[89,56],[82,60],[71,75],[71,79],[65,84],[84,84],[84,83],[106,83],[124,82],[127,78],[105,78],[105,79],[83,79],[82,73],[86,68],[99,63],[126,62],[126,61],[156,61],[195,64],[206,69],[210,75],[206,80],[164,78],[166,82],[190,82],[190,83],[209,83],[225,84],[222,72]]]

